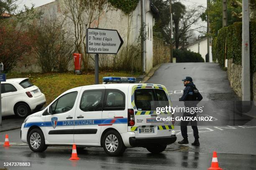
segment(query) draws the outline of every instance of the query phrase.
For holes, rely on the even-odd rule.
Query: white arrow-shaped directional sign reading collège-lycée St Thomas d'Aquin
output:
[[[87,28],[87,53],[116,54],[122,45],[123,40],[117,30]]]

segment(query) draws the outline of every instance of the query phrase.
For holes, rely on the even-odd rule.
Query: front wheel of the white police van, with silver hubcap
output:
[[[44,134],[41,130],[35,128],[30,131],[28,134],[28,146],[34,152],[43,152],[47,149]]]

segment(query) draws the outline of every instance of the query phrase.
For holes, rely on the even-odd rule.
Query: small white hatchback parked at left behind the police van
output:
[[[40,110],[46,103],[44,94],[28,78],[7,79],[1,82],[2,116],[27,117],[31,110]]]

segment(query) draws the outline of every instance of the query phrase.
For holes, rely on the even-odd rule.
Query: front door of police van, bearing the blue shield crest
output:
[[[45,134],[49,143],[74,143],[74,116],[79,89],[67,92],[49,105]]]

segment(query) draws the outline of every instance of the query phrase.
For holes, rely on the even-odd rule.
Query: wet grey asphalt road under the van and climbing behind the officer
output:
[[[185,69],[184,69],[185,68]],[[213,63],[166,63],[155,72],[148,83],[163,84],[169,90],[172,101],[182,95],[182,79],[191,76],[200,89],[205,102],[238,100],[229,86],[226,72]],[[217,122],[222,122],[232,115],[232,109],[218,105],[215,110]],[[220,108],[221,107],[221,108]],[[206,114],[206,113],[204,113]],[[235,115],[233,122],[243,119],[243,125],[253,125],[255,119],[245,115]],[[225,122],[225,121],[224,121]],[[71,147],[49,147],[44,153],[33,153],[27,145],[13,145],[10,148],[0,147],[0,168],[4,162],[31,162],[32,167],[8,167],[8,169],[149,169],[149,170],[206,170],[210,167],[212,152],[218,153],[220,167],[224,170],[256,170],[256,124],[255,126],[204,125],[198,126],[200,147],[193,147],[192,129],[188,127],[189,145],[169,145],[166,151],[153,155],[145,148],[129,148],[122,157],[109,157],[102,148],[78,150],[79,161],[68,160]],[[180,128],[175,126],[178,140],[182,139]],[[20,143],[19,129],[0,133],[0,142],[8,133],[11,143]]]

